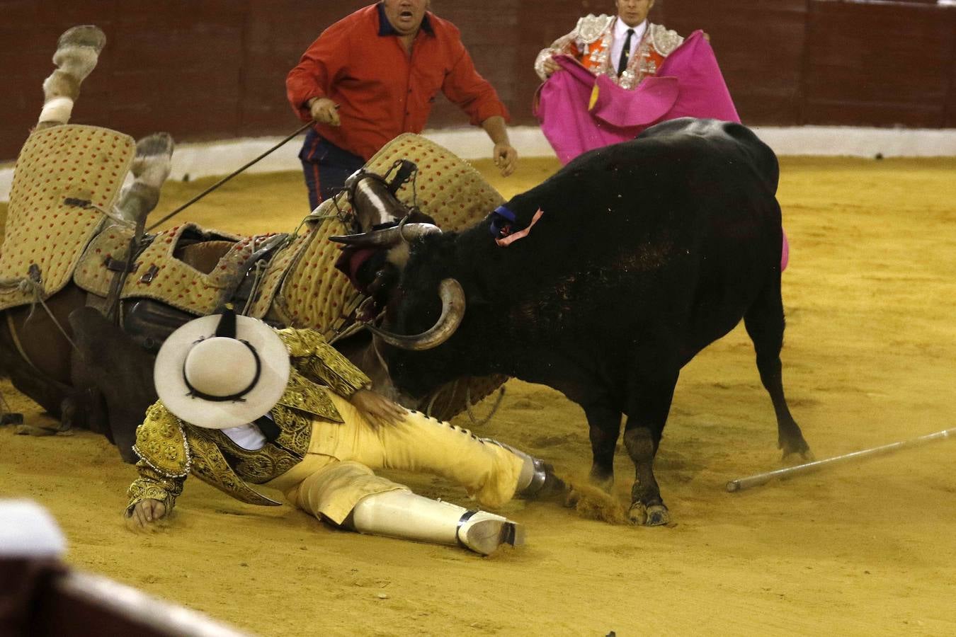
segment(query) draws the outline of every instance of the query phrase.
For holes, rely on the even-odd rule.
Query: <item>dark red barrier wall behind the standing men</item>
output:
[[[277,135],[297,125],[284,78],[299,55],[359,1],[0,0],[0,159],[12,159],[42,106],[56,37],[97,24],[108,44],[74,121],[135,137]],[[578,16],[611,0],[434,0],[482,74],[534,124],[535,54]],[[956,127],[956,7],[932,0],[658,0],[652,20],[705,30],[746,123]],[[430,126],[465,117],[436,104]]]

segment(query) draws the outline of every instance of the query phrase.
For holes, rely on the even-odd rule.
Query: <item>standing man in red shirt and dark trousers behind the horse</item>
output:
[[[326,29],[286,77],[302,121],[315,120],[299,159],[315,209],[385,143],[421,133],[439,91],[481,125],[504,176],[518,158],[508,110],[475,71],[458,28],[428,0],[381,0]]]

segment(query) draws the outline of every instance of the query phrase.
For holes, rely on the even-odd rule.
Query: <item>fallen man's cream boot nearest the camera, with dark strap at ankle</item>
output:
[[[361,499],[345,525],[370,535],[459,544],[482,555],[490,555],[502,544],[524,543],[524,529],[517,522],[406,490]]]

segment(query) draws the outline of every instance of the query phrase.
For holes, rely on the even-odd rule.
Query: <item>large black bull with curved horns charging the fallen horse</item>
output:
[[[504,373],[579,404],[590,427],[591,478],[609,488],[620,435],[634,460],[631,518],[662,524],[653,473],[681,368],[744,320],[771,395],[784,455],[809,448],[784,398],[780,349],[778,165],[744,126],[680,119],[592,151],[506,204],[507,247],[489,220],[412,244],[388,331],[416,334],[456,279],[467,311],[444,344],[383,351],[393,382],[418,396],[461,375]]]

